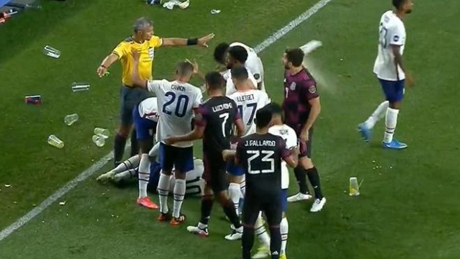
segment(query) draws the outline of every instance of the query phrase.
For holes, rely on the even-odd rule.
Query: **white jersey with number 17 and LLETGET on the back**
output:
[[[270,103],[270,98],[267,93],[252,89],[248,91],[236,91],[229,95],[229,98],[236,102],[238,112],[245,125],[245,133],[243,136],[256,132],[254,118],[256,111]]]

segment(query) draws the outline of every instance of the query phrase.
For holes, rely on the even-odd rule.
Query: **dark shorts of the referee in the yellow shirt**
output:
[[[122,125],[132,125],[132,109],[142,100],[149,97],[148,91],[128,86],[120,89],[120,120]]]

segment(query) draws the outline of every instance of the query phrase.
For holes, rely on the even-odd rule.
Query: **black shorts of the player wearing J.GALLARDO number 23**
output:
[[[282,219],[282,196],[280,193],[252,196],[247,192],[243,203],[243,224],[254,227],[259,212],[266,216],[268,226],[279,226]]]

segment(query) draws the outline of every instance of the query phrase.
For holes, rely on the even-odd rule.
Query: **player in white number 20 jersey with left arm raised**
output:
[[[160,122],[157,130],[157,140],[160,141],[160,164],[162,173],[158,182],[158,196],[160,196],[160,215],[158,221],[167,221],[167,198],[169,181],[173,167],[175,168],[176,185],[174,186],[174,203],[171,226],[178,226],[185,221],[181,214],[181,206],[185,195],[185,174],[193,170],[193,143],[191,141],[178,142],[169,146],[164,139],[169,136],[187,134],[192,130],[192,118],[201,103],[201,90],[188,83],[192,74],[198,71],[189,62],[180,62],[177,65],[176,80],[141,80],[137,71],[139,54],[133,54],[135,59],[133,82],[136,86],[146,88],[155,93],[158,98],[158,113]],[[142,159],[148,159],[143,154]],[[141,161],[142,164],[142,161]]]

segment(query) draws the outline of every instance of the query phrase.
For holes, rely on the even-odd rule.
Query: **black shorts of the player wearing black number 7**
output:
[[[212,154],[212,155],[211,155]],[[215,194],[229,189],[227,180],[227,163],[220,152],[203,152],[204,180]]]

